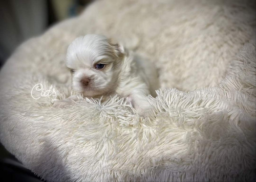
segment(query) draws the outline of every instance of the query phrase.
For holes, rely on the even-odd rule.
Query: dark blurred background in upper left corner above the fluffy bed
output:
[[[52,24],[77,16],[93,0],[1,0],[0,66],[25,40]]]

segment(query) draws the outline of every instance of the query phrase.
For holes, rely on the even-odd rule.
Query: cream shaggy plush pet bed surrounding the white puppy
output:
[[[153,116],[117,96],[52,107],[73,94],[65,53],[88,33],[156,61]],[[50,181],[253,181],[254,35],[255,1],[94,2],[1,70],[1,142]]]

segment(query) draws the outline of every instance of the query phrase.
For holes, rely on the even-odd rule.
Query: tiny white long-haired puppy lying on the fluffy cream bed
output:
[[[93,98],[118,94],[127,98],[140,116],[151,108],[147,95],[156,96],[159,88],[156,67],[150,61],[101,35],[76,38],[68,47],[66,65],[77,94]],[[63,107],[77,98],[57,100],[53,106]]]

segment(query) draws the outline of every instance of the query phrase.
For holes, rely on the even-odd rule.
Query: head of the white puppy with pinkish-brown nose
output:
[[[66,65],[73,74],[73,90],[87,97],[112,92],[124,57],[124,49],[101,35],[76,38],[68,47]]]

